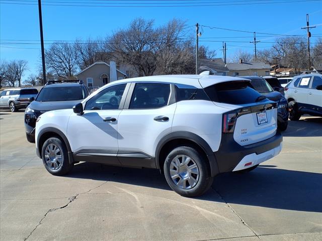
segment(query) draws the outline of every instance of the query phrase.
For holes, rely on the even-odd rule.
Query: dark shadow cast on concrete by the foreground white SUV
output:
[[[250,173],[224,173],[214,178],[212,188],[228,203],[322,212],[322,174],[291,171],[263,165]],[[171,190],[156,169],[112,167],[96,163],[79,163],[68,175],[71,178],[112,181]],[[218,201],[211,192],[198,197]]]

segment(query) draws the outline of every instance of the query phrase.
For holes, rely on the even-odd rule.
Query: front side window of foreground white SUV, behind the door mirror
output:
[[[118,109],[126,84],[106,88],[86,102],[85,110]]]

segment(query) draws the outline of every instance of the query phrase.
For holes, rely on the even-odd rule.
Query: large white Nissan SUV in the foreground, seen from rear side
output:
[[[192,197],[219,173],[250,171],[276,156],[276,127],[276,102],[248,79],[150,76],[112,82],[73,109],[42,114],[36,148],[53,175],[79,161],[157,168],[173,190]]]

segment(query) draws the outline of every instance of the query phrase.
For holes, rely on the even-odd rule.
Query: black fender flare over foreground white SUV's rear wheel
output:
[[[207,155],[208,161],[209,161],[209,166],[210,166],[210,173],[211,176],[214,177],[219,173],[218,165],[217,165],[217,160],[214,156],[214,153],[212,152],[210,146],[208,143],[199,137],[198,135],[191,133],[191,132],[172,132],[165,137],[163,137],[159,143],[156,146],[155,150],[155,166],[158,169],[161,169],[159,166],[159,155],[161,149],[170,141],[175,140],[175,139],[186,139],[189,141],[194,142],[196,145],[198,145]]]

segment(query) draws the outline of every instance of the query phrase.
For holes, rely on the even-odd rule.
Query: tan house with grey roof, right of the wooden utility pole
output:
[[[242,59],[238,63],[227,63],[228,76],[270,76],[271,66],[263,62],[246,63]]]

